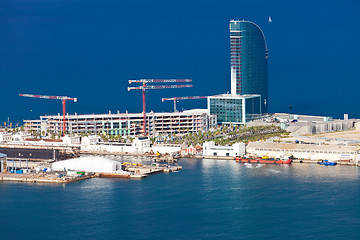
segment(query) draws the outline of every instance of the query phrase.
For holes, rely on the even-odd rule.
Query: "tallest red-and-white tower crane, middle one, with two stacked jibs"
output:
[[[184,87],[192,87],[191,84],[185,85],[147,85],[147,83],[173,83],[173,82],[191,82],[191,79],[136,79],[129,80],[129,84],[131,83],[142,83],[142,86],[138,87],[128,87],[128,91],[141,89],[143,96],[143,135],[147,136],[146,133],[146,99],[145,92],[148,89],[165,89],[165,88],[184,88]]]

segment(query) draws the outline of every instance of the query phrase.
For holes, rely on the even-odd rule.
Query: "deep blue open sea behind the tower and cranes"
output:
[[[269,48],[269,111],[360,118],[360,3],[288,1],[0,1],[0,122],[61,112],[141,112],[128,79],[192,78],[193,88],[153,90],[147,109],[171,111],[162,97],[230,91],[228,22],[253,21]],[[271,16],[273,22],[267,22]],[[178,103],[206,108],[206,100]]]

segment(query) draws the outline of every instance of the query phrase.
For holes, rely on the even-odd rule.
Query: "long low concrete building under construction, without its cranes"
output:
[[[136,136],[143,133],[142,113],[75,114],[66,115],[65,119],[65,130],[70,134]],[[63,117],[60,115],[41,116],[40,120],[24,120],[26,130],[42,135],[61,133],[62,124]],[[216,124],[216,116],[208,115],[206,109],[146,114],[146,131],[151,136],[206,131]]]

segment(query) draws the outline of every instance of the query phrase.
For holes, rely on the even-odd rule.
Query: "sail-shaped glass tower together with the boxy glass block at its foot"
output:
[[[218,124],[241,124],[267,113],[268,71],[265,37],[249,21],[230,21],[231,94],[208,97],[208,114]]]

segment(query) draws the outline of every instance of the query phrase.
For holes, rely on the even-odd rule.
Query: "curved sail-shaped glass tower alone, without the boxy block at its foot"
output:
[[[261,112],[267,113],[268,50],[259,26],[230,21],[231,94],[260,94]]]

